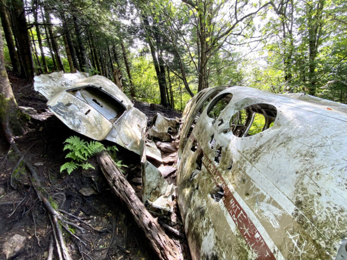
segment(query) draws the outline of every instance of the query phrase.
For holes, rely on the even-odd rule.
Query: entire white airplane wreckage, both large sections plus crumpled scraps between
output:
[[[34,87],[72,130],[141,155],[143,203],[172,212],[176,190],[193,259],[347,258],[347,105],[204,89],[183,112],[176,188],[149,163],[162,159],[146,116],[107,78],[54,72]],[[158,114],[150,135],[177,123]]]

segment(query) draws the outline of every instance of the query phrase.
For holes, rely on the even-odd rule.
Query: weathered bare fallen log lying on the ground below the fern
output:
[[[107,152],[98,156],[101,170],[107,179],[113,192],[122,199],[130,210],[135,222],[145,232],[146,237],[160,259],[183,259],[179,245],[169,238],[165,231],[136,196],[135,191],[128,183],[120,169],[114,164],[113,159]]]

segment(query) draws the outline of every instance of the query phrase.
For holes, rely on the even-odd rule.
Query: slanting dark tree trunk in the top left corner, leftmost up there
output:
[[[2,23],[3,29],[4,29],[4,34],[5,34],[5,39],[6,39],[8,51],[10,54],[13,72],[16,74],[20,74],[21,65],[20,65],[20,61],[18,59],[17,51],[15,49],[10,19],[9,19],[9,15],[8,15],[4,0],[0,0],[0,16],[1,16],[1,23]]]

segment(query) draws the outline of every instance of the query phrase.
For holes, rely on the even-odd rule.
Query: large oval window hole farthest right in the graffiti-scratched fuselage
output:
[[[235,136],[244,137],[255,135],[274,125],[277,109],[269,104],[250,105],[230,118],[228,131]]]

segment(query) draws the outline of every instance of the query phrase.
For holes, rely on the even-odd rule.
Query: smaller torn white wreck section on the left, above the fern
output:
[[[35,90],[48,99],[48,108],[69,128],[140,154],[147,118],[109,79],[53,72],[35,76],[34,80]],[[158,157],[155,149],[149,149],[147,154]]]

